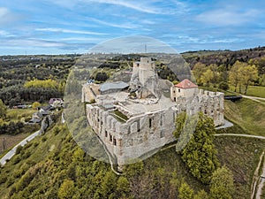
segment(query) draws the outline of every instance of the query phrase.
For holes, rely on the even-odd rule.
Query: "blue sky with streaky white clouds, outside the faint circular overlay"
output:
[[[12,0],[0,2],[0,55],[86,53],[144,35],[186,50],[265,45],[265,1]]]

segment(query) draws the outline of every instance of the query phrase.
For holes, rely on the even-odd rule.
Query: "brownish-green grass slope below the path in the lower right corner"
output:
[[[234,198],[250,198],[254,171],[259,163],[265,141],[222,136],[216,137],[215,144],[221,164],[229,167],[233,173],[236,186]]]

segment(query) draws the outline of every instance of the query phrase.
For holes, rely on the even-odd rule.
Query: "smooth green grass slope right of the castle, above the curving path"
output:
[[[250,99],[240,99],[235,103],[224,101],[224,115],[232,123],[237,124],[243,134],[255,134],[265,136],[265,105]]]

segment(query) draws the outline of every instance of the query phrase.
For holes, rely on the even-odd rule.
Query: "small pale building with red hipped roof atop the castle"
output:
[[[193,81],[185,79],[170,88],[170,98],[172,101],[177,102],[178,96],[185,96],[187,98],[193,97],[198,94],[198,85]]]

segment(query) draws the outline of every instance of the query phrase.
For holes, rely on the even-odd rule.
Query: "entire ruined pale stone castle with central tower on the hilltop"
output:
[[[82,101],[87,102],[89,125],[119,166],[174,142],[172,132],[182,111],[192,115],[200,109],[216,126],[223,125],[223,93],[204,91],[187,79],[177,85],[160,80],[150,57],[133,63],[129,84],[87,83]]]

